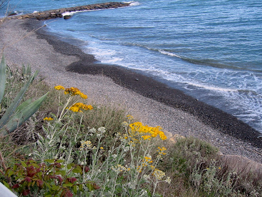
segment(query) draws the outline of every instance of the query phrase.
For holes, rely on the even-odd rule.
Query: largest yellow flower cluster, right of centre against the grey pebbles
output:
[[[150,133],[151,137],[156,137],[159,135],[159,137],[162,140],[167,139],[165,133],[162,130],[161,127],[148,127],[147,125],[144,126],[141,122],[136,122],[129,125],[130,127],[130,134],[135,136],[137,132],[139,133]],[[143,139],[149,139],[146,135],[143,135]]]

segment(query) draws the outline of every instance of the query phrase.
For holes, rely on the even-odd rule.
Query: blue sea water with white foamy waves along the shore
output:
[[[10,5],[22,14],[100,2],[106,1]],[[153,75],[262,132],[262,1],[138,0],[45,23],[101,63]]]

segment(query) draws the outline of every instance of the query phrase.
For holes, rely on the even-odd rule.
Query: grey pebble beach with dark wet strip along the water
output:
[[[37,20],[6,20],[0,48],[8,65],[29,64],[50,86],[77,87],[96,103],[112,103],[149,126],[194,136],[223,154],[262,163],[259,133],[235,117],[120,66],[99,64],[92,55],[60,41]],[[248,132],[247,132],[248,131]]]

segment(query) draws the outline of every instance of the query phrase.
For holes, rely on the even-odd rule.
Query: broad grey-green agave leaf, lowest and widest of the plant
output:
[[[17,127],[21,126],[25,121],[27,121],[39,109],[47,95],[48,93],[33,101],[26,107],[21,107],[21,109],[19,109],[17,113],[11,116],[5,128],[8,133],[14,131]],[[22,104],[25,105],[26,102],[27,101],[23,102]]]

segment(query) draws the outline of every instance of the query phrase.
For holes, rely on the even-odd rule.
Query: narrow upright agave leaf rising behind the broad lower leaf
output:
[[[3,128],[3,126],[8,122],[9,118],[14,114],[19,102],[22,100],[26,90],[28,89],[30,83],[32,80],[36,77],[38,74],[38,71],[36,71],[28,80],[28,82],[25,84],[25,86],[20,90],[20,92],[17,94],[13,102],[10,104],[10,106],[6,109],[5,113],[0,119],[0,129]]]

